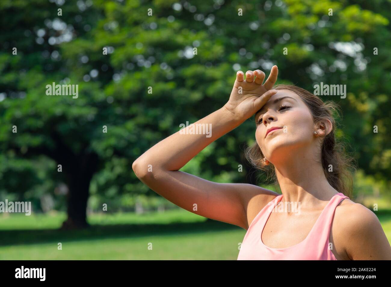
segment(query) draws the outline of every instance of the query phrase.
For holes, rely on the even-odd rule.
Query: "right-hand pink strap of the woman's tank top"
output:
[[[329,243],[330,228],[334,218],[335,209],[337,208],[337,205],[345,198],[349,197],[343,193],[337,193],[331,198],[317,219],[314,227],[310,231],[310,234],[308,234],[309,240],[319,241],[319,243],[321,242],[324,244]]]

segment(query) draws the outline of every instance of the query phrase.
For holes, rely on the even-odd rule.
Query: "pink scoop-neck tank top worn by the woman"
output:
[[[272,210],[282,200],[282,194],[276,196],[251,222],[237,260],[337,260],[328,248],[328,237],[335,208],[344,198],[348,196],[343,193],[331,198],[303,241],[287,248],[269,248],[262,242],[261,235]]]

